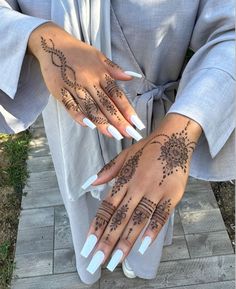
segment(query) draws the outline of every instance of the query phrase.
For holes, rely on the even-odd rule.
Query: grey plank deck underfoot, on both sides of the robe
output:
[[[119,267],[113,273],[103,269],[93,286],[83,284],[41,119],[32,134],[12,289],[235,288],[235,255],[214,194],[208,182],[191,178],[155,280],[127,279]]]

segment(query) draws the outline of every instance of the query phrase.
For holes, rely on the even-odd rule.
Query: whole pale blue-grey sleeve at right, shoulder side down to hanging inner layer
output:
[[[200,178],[204,178],[206,167],[214,171],[209,179],[235,176],[234,38],[233,0],[202,0],[190,43],[195,53],[183,71],[176,100],[168,111],[195,120],[203,129],[193,156],[193,175]]]

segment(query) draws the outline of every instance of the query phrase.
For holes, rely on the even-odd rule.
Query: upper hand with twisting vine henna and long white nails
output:
[[[132,77],[118,65],[53,23],[31,33],[28,49],[40,63],[48,90],[75,121],[109,137],[141,138],[132,124],[144,125],[115,82]]]

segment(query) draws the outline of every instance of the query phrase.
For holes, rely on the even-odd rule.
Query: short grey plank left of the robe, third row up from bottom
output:
[[[19,230],[16,255],[53,250],[53,226]]]

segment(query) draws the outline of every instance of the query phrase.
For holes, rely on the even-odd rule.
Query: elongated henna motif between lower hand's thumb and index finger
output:
[[[135,171],[138,166],[138,162],[142,153],[143,153],[143,148],[138,150],[133,156],[131,156],[125,162],[112,188],[112,191],[111,191],[112,197],[115,194],[117,194],[121,190],[121,188],[132,179],[133,175],[135,174]]]

